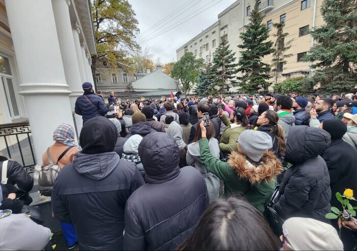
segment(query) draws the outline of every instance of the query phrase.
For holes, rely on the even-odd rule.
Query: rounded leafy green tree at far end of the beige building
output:
[[[203,58],[196,59],[192,52],[186,52],[179,61],[173,64],[171,77],[182,83],[182,91],[187,93],[192,85],[198,82],[198,76],[205,67]]]

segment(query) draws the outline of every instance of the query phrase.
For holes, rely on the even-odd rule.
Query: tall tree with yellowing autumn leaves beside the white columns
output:
[[[120,67],[130,71],[129,55],[140,49],[134,40],[139,29],[132,6],[126,0],[91,0],[91,7],[97,47],[97,54],[92,55],[94,81],[99,59],[106,58],[113,67],[120,62]]]

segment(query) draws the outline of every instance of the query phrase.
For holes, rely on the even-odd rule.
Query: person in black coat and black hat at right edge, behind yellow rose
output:
[[[331,135],[330,146],[321,154],[330,176],[331,206],[341,208],[341,203],[335,194],[337,192],[342,194],[346,188],[357,190],[357,152],[342,139],[347,131],[347,126],[342,121],[326,120],[321,123],[320,128]],[[353,207],[357,206],[354,202],[351,202]],[[337,221],[331,223],[339,231]],[[355,243],[352,231],[342,229],[341,239],[344,249],[352,250]]]

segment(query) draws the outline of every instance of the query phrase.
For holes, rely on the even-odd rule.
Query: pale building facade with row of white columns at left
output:
[[[39,165],[58,125],[81,130],[74,104],[93,82],[95,46],[88,0],[0,0],[0,124],[29,121]]]

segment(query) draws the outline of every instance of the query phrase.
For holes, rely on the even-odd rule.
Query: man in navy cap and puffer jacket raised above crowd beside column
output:
[[[83,124],[96,116],[104,116],[108,107],[103,99],[94,94],[93,85],[89,82],[82,84],[84,94],[75,101],[74,111],[82,116]]]

